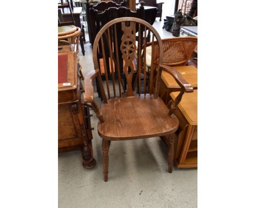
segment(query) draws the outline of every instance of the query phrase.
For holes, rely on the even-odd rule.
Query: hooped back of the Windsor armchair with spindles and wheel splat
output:
[[[149,41],[154,42],[150,74],[146,70],[146,46]],[[158,45],[157,50],[155,50],[155,45]],[[92,50],[95,70],[100,70],[101,75],[104,75],[106,79],[108,99],[117,97],[115,80],[118,82],[120,97],[123,93],[127,97],[134,96],[135,90],[139,95],[154,93],[154,97],[158,97],[161,78],[159,65],[162,64],[163,57],[162,41],[158,32],[148,22],[135,17],[114,19],[106,23],[98,32]],[[102,58],[98,58],[100,51]],[[100,75],[98,77],[101,79]],[[113,95],[109,88],[111,78]],[[99,82],[102,83],[102,79]],[[107,102],[103,89],[101,89],[101,94],[103,94],[104,102]]]

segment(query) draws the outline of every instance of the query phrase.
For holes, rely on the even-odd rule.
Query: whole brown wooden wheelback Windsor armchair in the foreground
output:
[[[118,45],[118,33],[122,33],[121,42]],[[136,33],[138,33],[138,42],[136,46]],[[152,45],[152,73],[150,74],[149,84],[146,84],[146,36],[150,37],[154,44]],[[103,44],[103,39],[106,44]],[[156,42],[155,42],[156,40]],[[154,50],[156,44],[158,50]],[[100,70],[102,64],[98,64],[97,53],[99,47],[102,47],[103,59],[104,51],[108,50],[110,54],[111,75],[106,76],[106,90],[104,88]],[[119,50],[122,54],[123,70],[127,79],[127,90],[125,90],[123,79],[119,70]],[[135,52],[137,50],[137,58]],[[159,56],[155,56],[156,53]],[[154,58],[158,57],[158,58]],[[104,181],[108,180],[108,150],[111,140],[130,140],[150,138],[157,136],[168,136],[174,133],[178,128],[178,119],[173,112],[182,99],[182,95],[187,92],[193,92],[193,88],[184,78],[170,66],[162,65],[162,41],[158,32],[146,21],[135,17],[121,17],[108,22],[98,32],[93,46],[94,71],[85,76],[85,94],[86,103],[91,103],[96,112],[98,122],[98,134],[102,137],[102,164]],[[104,60],[104,69],[106,61]],[[159,97],[159,85],[161,71],[164,70],[171,74],[181,87],[180,93],[173,101],[170,109]],[[133,74],[136,73],[135,82],[132,82]],[[114,72],[118,77],[115,79]],[[102,95],[101,110],[94,101],[94,79],[100,86]],[[112,89],[110,85],[112,81]],[[153,84],[155,85],[153,91]],[[172,172],[173,165],[173,138],[168,137],[170,149],[168,151],[168,172]]]

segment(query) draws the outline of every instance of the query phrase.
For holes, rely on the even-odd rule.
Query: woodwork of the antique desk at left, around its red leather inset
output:
[[[89,107],[84,105],[79,82],[79,64],[73,51],[67,55],[67,82],[58,83],[58,147],[59,152],[82,150],[83,166],[92,168],[96,161],[92,151]]]

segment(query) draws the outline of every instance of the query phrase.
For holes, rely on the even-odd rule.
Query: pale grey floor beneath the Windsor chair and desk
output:
[[[85,56],[79,58],[84,75],[94,69],[90,44],[85,44]],[[83,168],[80,151],[59,154],[59,207],[197,207],[197,169],[173,167],[168,173],[167,146],[159,137],[112,142],[108,182],[104,182],[102,139],[91,113],[97,165]]]

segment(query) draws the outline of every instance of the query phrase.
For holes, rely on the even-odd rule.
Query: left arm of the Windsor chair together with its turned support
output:
[[[103,116],[101,114],[100,108],[98,108],[98,105],[94,101],[94,78],[100,73],[99,70],[92,70],[90,71],[84,78],[84,102],[85,103],[91,103],[91,107],[96,113],[96,117],[98,120],[101,121],[101,123],[104,122]]]

